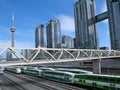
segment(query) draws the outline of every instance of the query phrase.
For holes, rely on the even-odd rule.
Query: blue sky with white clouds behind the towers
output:
[[[61,34],[75,37],[74,7],[78,0],[0,0],[0,46],[11,46],[12,12],[15,16],[15,47],[35,47],[35,28],[59,19]],[[95,0],[96,15],[107,11],[106,0]],[[108,21],[97,23],[99,46],[110,47]]]

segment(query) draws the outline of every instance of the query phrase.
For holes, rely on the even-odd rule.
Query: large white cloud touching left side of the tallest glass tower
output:
[[[62,35],[74,37],[75,33],[74,17],[60,14],[57,16],[57,18],[60,20]]]

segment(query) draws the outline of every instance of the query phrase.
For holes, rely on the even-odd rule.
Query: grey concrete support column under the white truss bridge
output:
[[[93,60],[93,73],[101,74],[101,59]]]

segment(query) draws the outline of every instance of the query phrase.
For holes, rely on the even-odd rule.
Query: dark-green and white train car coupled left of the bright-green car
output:
[[[54,80],[63,83],[74,83],[74,73],[62,72],[56,70],[43,70],[41,72],[42,78]]]

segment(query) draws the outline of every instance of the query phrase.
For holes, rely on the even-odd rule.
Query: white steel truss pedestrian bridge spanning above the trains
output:
[[[0,47],[0,67],[120,58],[120,51],[98,49]]]

